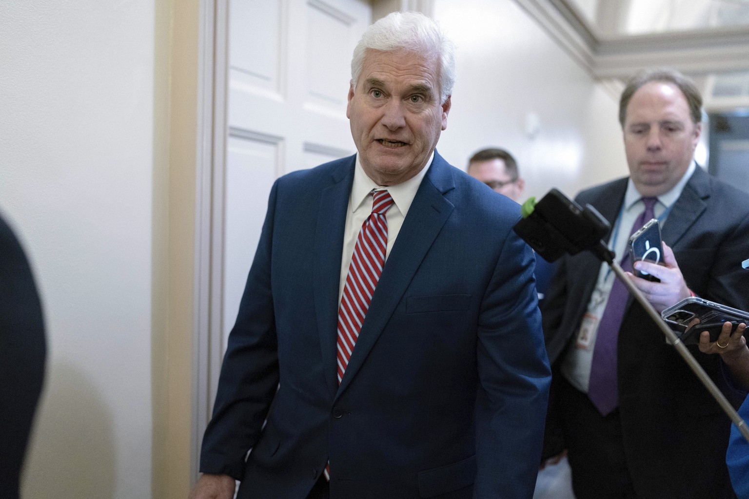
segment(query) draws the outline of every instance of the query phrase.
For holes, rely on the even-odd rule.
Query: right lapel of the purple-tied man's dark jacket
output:
[[[667,245],[673,248],[697,218],[700,218],[707,208],[706,199],[709,196],[710,176],[698,166],[684,186],[682,195],[673,203],[661,230],[661,237]]]

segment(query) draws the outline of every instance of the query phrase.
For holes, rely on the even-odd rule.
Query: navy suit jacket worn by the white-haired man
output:
[[[518,205],[434,153],[339,386],[354,159],[273,186],[201,471],[240,498],[303,499],[329,459],[332,499],[530,498],[550,373]]]

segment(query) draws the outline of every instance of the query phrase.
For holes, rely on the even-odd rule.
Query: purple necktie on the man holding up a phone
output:
[[[629,232],[630,236],[646,221],[655,218],[653,208],[658,198],[642,198],[642,200],[645,203],[645,210],[634,221],[632,230]],[[622,258],[621,266],[625,271],[631,272],[632,263],[628,251]],[[614,278],[606,308],[598,324],[588,384],[588,397],[602,416],[609,414],[619,405],[619,388],[616,385],[616,343],[619,340],[619,328],[624,319],[627,298],[627,287],[622,284],[622,281]]]

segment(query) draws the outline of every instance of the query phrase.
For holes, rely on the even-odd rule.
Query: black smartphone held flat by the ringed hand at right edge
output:
[[[700,333],[709,331],[710,341],[718,340],[724,322],[733,324],[735,331],[742,322],[749,325],[749,312],[727,307],[703,298],[693,296],[661,312],[661,317],[672,329],[681,331],[679,338],[685,345],[700,343]],[[696,324],[690,324],[697,319]]]

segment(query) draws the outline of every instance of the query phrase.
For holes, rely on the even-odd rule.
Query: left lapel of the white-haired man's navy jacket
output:
[[[315,230],[315,315],[318,320],[325,377],[330,396],[338,390],[336,338],[338,293],[348,198],[354,182],[354,160],[333,173],[333,185],[320,193]]]

